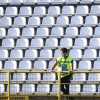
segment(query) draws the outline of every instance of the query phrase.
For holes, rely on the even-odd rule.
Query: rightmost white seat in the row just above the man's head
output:
[[[91,38],[89,43],[90,48],[100,48],[100,38]]]

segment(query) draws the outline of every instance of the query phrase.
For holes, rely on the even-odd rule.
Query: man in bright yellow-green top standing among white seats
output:
[[[66,84],[66,83],[70,83],[70,80],[72,78],[73,59],[69,55],[68,49],[62,48],[61,52],[62,52],[62,57],[59,57],[56,59],[56,63],[54,64],[52,70],[54,70],[55,67],[57,66],[62,71],[68,71],[67,73],[61,74],[60,88],[64,94],[69,94],[69,84]],[[62,84],[62,83],[65,83],[65,84]]]

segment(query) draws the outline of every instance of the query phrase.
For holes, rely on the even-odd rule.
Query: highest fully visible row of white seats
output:
[[[76,10],[76,12],[75,12]],[[89,13],[90,10],[90,13]],[[47,12],[46,12],[47,11]],[[4,13],[5,12],[5,13]],[[93,5],[88,7],[87,5],[78,5],[77,8],[74,6],[63,6],[62,10],[60,6],[50,6],[48,9],[45,6],[36,6],[32,8],[31,6],[20,7],[19,14],[18,8],[16,6],[7,7],[4,11],[3,7],[0,7],[0,16],[58,16],[58,15],[100,15],[100,5]]]

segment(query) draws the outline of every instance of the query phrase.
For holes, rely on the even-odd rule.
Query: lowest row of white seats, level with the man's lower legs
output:
[[[69,93],[70,94],[100,94],[100,85],[96,86],[95,84],[84,84],[83,88],[81,90],[82,86],[77,84],[77,85],[72,85],[70,84],[69,86]],[[8,87],[7,87],[7,91],[8,91]],[[59,91],[59,87],[58,85],[52,85],[51,89],[50,89],[50,85],[49,84],[38,84],[37,88],[34,84],[23,84],[22,85],[22,89],[20,89],[20,85],[19,84],[11,84],[10,85],[10,93],[11,94],[47,94],[47,93],[51,93],[53,95],[57,94]],[[0,84],[0,94],[5,93],[5,86],[4,84]]]

